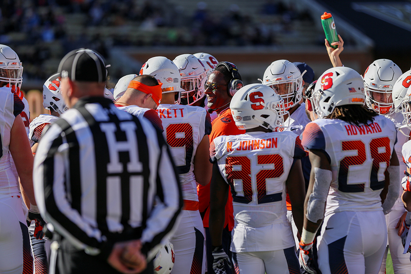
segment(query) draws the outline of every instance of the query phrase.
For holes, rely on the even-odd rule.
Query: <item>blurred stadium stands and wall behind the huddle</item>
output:
[[[245,84],[277,59],[306,62],[318,77],[331,66],[320,20],[325,11],[344,39],[346,66],[363,73],[373,60],[388,58],[403,72],[410,67],[410,1],[3,0],[0,9],[0,44],[23,62],[31,120],[47,113],[43,83],[79,47],[111,64],[109,87],[138,74],[150,57],[196,52],[235,63]]]

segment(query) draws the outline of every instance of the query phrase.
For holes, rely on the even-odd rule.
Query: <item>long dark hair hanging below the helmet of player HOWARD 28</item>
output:
[[[361,105],[344,105],[335,107],[332,113],[325,118],[340,119],[350,124],[360,126],[360,124],[368,124],[374,121],[374,117],[378,113],[366,109]]]

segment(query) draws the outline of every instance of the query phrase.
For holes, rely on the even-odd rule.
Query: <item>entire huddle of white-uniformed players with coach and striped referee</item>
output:
[[[390,250],[411,273],[411,70],[361,76],[340,41],[318,80],[276,60],[243,85],[196,53],[152,57],[113,92],[78,49],[31,123],[0,45],[0,272],[376,274]]]

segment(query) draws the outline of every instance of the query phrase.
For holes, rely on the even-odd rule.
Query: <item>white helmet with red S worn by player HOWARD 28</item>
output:
[[[338,66],[326,70],[318,79],[311,96],[318,118],[330,115],[335,107],[364,105],[364,81],[350,67]]]

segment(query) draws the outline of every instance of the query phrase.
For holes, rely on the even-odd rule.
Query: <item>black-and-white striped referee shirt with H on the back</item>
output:
[[[34,170],[45,220],[90,255],[107,258],[115,242],[139,238],[150,251],[183,205],[161,132],[105,98],[80,99],[51,125]]]

